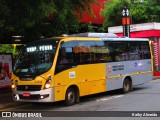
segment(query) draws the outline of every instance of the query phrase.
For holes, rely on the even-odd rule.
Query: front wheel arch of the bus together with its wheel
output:
[[[65,104],[71,106],[76,102],[79,102],[79,88],[76,85],[71,85],[67,88],[65,93]]]

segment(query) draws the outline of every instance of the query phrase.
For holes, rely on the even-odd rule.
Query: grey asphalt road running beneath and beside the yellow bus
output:
[[[128,94],[112,91],[82,97],[80,100],[80,103],[69,107],[66,107],[63,102],[47,104],[23,103],[5,107],[1,111],[40,112],[42,116],[43,113],[52,116],[47,117],[47,119],[52,120],[80,120],[84,117],[85,120],[106,120],[106,117],[107,120],[127,120],[128,117],[130,120],[158,120],[160,119],[160,79],[139,85]],[[148,115],[152,117],[148,117]]]

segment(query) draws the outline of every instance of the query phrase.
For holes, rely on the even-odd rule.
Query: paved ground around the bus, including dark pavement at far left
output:
[[[153,112],[158,114],[158,117],[144,117],[144,120],[158,120],[160,119],[160,79],[153,80],[144,85],[140,85],[134,88],[134,90],[128,94],[121,94],[118,92],[113,93],[103,93],[98,95],[93,95],[89,97],[83,97],[81,102],[74,105],[65,107],[58,103],[53,104],[29,104],[29,103],[15,103],[12,101],[11,90],[3,89],[0,90],[0,107],[1,109],[9,112],[9,111],[40,111],[43,115],[43,112],[47,111],[48,117],[43,118],[43,120],[140,120],[141,117],[116,117],[120,113],[125,113],[128,111],[129,113],[133,112],[135,115],[142,113],[150,113]],[[11,106],[12,105],[12,106]],[[66,113],[65,113],[66,111]],[[74,111],[74,112],[73,112]],[[76,114],[78,111],[78,116],[80,112],[90,112],[89,114],[93,114],[91,116],[97,116],[100,112],[105,112],[105,115],[108,114],[109,111],[113,111],[114,117],[63,117],[63,115],[68,115],[72,113]],[[119,111],[119,112],[117,112]],[[147,112],[148,111],[148,112]],[[155,112],[154,112],[155,111]],[[55,113],[58,112],[58,113]],[[88,113],[87,113],[88,114]],[[132,114],[132,113],[131,113]],[[53,117],[53,115],[57,115],[59,117]],[[84,113],[83,113],[84,115]],[[50,116],[50,117],[49,117]],[[51,117],[52,116],[52,117]],[[108,115],[107,115],[108,116]],[[6,118],[7,119],[7,118]],[[17,118],[15,118],[17,120]],[[25,120],[26,118],[21,118]],[[19,120],[21,120],[19,118]],[[39,118],[38,118],[39,119]],[[34,118],[35,120],[35,118]]]

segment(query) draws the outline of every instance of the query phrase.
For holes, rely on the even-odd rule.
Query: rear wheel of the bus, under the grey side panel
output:
[[[123,93],[128,93],[132,91],[132,81],[129,78],[125,78],[123,81]]]

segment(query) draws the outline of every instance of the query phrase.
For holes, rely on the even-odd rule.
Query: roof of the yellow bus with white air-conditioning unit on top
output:
[[[32,44],[42,44],[53,41],[149,41],[147,38],[128,38],[128,37],[117,37],[115,34],[110,33],[80,33],[69,36],[61,36],[61,37],[51,37],[45,38],[38,41],[33,41],[28,43],[28,45]]]

